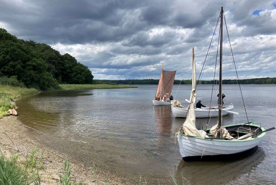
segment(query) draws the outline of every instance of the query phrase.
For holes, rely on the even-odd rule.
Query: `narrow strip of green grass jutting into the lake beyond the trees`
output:
[[[60,84],[59,86],[64,90],[137,88],[137,86],[133,85],[112,84]]]

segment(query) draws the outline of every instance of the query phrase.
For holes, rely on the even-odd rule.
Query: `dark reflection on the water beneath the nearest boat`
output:
[[[262,148],[223,161],[186,162],[181,161],[176,169],[175,179],[178,184],[229,184],[243,175],[250,173],[265,158]],[[219,176],[217,176],[219,174]]]

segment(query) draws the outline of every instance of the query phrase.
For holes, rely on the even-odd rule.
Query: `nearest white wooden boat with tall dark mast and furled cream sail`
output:
[[[225,157],[240,155],[253,150],[258,146],[266,132],[275,129],[265,130],[259,125],[251,122],[222,126],[222,27],[223,8],[220,11],[220,60],[219,60],[219,109],[218,122],[211,129],[197,130],[195,127],[195,68],[193,68],[193,82],[190,94],[190,104],[187,116],[182,128],[178,132],[178,142],[182,158],[186,160],[208,160],[226,159]],[[224,19],[225,21],[225,19]],[[226,22],[225,22],[226,23]],[[227,27],[226,27],[227,28]],[[229,37],[229,36],[228,36]],[[229,39],[229,45],[230,39]],[[193,66],[195,65],[193,60]],[[246,111],[246,109],[245,109]],[[247,113],[246,113],[247,115]],[[248,118],[247,118],[248,120]],[[214,158],[215,157],[215,158]]]

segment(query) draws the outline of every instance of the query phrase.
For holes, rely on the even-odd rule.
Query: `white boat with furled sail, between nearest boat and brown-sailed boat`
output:
[[[195,70],[194,49],[192,48],[192,76],[195,75],[195,71],[196,70]],[[196,83],[195,78],[192,78],[191,80],[192,80],[192,83]],[[186,101],[189,102],[188,100],[186,100]],[[223,111],[222,111],[221,115],[225,116],[229,113],[238,114],[236,112],[230,111],[233,108],[234,108],[233,104],[223,105],[223,107],[222,107]],[[177,99],[173,100],[172,112],[176,118],[185,118],[187,116],[188,109],[189,109],[189,107],[184,107],[183,105],[181,105],[181,103]],[[218,116],[218,106],[211,106],[211,107],[206,106],[206,107],[202,107],[202,108],[194,108],[194,113],[195,113],[196,118],[217,117]]]

